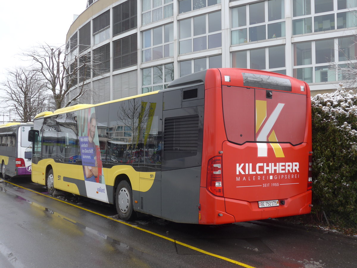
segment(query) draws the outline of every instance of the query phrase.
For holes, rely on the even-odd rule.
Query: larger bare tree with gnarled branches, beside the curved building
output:
[[[77,46],[69,50],[66,45],[46,44],[24,53],[39,65],[39,72],[44,76],[47,88],[53,95],[55,109],[70,106],[82,95],[90,94],[86,80],[91,77],[91,71],[96,75],[100,74],[100,68],[96,68],[100,62],[92,59],[91,52],[78,56],[76,51]],[[74,94],[64,103],[70,90]]]

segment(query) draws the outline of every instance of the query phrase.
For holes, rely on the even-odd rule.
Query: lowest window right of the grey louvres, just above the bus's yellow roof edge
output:
[[[174,64],[169,63],[145,68],[142,69],[141,74],[142,93],[161,90],[167,88],[167,85],[174,80]]]

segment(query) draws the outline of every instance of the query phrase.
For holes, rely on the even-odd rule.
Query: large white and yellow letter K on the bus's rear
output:
[[[256,104],[255,105],[256,134],[259,132],[257,137],[257,142],[268,142],[268,141],[278,142],[275,131],[272,129],[285,104],[278,103],[275,109],[273,110],[273,112],[269,116],[267,116],[266,100],[256,100],[255,104]],[[269,145],[273,148],[275,157],[285,157],[284,152],[278,143],[270,143]],[[258,157],[267,157],[268,144],[257,143],[257,146],[258,146]]]

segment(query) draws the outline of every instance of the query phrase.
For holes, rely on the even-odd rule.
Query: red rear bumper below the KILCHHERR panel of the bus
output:
[[[198,223],[226,224],[307,214],[311,212],[311,198],[312,192],[308,190],[287,199],[279,199],[279,202],[285,201],[285,204],[279,207],[259,208],[257,201],[247,202],[216,197],[208,193],[206,188],[201,187],[201,210]]]

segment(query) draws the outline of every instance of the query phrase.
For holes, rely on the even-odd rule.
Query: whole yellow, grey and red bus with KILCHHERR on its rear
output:
[[[207,69],[166,89],[77,104],[34,119],[32,181],[179,223],[225,224],[311,211],[307,83]]]

